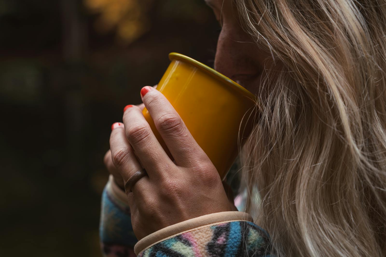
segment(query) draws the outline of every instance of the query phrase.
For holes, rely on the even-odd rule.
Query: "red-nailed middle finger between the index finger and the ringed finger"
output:
[[[175,166],[154,136],[141,109],[137,106],[126,109],[123,121],[126,138],[149,177],[156,175],[156,171],[167,171]]]

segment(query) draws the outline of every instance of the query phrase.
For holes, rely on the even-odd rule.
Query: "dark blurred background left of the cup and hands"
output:
[[[218,28],[204,0],[0,0],[1,256],[101,256],[111,124]]]

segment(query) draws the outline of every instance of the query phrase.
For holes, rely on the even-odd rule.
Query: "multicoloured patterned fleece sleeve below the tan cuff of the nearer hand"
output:
[[[142,251],[138,257],[269,256],[269,237],[252,222],[209,225],[176,235]]]

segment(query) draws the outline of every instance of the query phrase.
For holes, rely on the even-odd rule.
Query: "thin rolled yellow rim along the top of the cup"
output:
[[[183,55],[183,54],[179,54],[179,53],[176,53],[176,52],[171,52],[169,54],[169,59],[170,60],[184,60],[190,64],[192,64],[193,66],[197,67],[197,68],[201,68],[207,72],[209,72],[210,74],[212,75],[215,75],[216,77],[220,77],[220,79],[222,80],[225,80],[226,82],[228,82],[229,84],[233,85],[236,89],[239,89],[241,90],[244,94],[247,94],[247,96],[249,98],[251,98],[251,100],[253,101],[256,101],[256,97],[251,93],[249,92],[245,87],[241,86],[240,84],[237,84],[236,82],[234,82],[232,79],[230,79],[229,77],[226,77],[224,76],[223,74],[221,74],[220,72],[216,71],[215,69],[212,69],[211,67],[191,58],[191,57],[188,57],[186,55]]]

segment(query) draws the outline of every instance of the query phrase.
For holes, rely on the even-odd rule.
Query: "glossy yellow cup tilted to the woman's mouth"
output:
[[[157,90],[176,109],[223,179],[238,155],[238,147],[251,133],[253,115],[250,114],[256,104],[255,97],[236,82],[190,57],[171,53],[169,59],[171,64]],[[149,111],[144,108],[142,113],[174,160]]]

